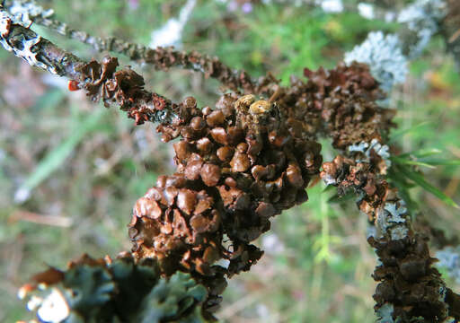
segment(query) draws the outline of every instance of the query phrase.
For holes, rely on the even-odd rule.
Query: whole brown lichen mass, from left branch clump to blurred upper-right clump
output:
[[[332,135],[337,148],[380,139],[391,118],[373,101],[381,93],[365,65],[305,70],[306,82],[265,82],[260,98],[226,94],[215,109],[199,109],[191,97],[173,104],[147,92],[134,71],[115,72],[117,65],[105,58],[80,66],[79,86],[93,100],[116,101],[137,124],[159,122],[164,142],[179,138],[176,172],[161,176],[134,206],[132,253],[155,258],[166,275],[190,272],[208,286],[209,308],[225,276],[261,258],[251,241],[270,229],[270,218],[307,200],[322,162],[315,138]]]

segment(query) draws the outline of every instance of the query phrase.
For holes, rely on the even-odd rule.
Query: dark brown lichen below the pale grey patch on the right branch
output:
[[[373,275],[380,282],[374,294],[376,310],[385,303],[394,304],[394,318],[403,322],[414,317],[436,322],[455,315],[449,313],[446,302],[447,293],[452,292],[432,266],[436,259],[429,256],[426,240],[411,232],[403,240],[371,237],[369,243],[382,262]]]

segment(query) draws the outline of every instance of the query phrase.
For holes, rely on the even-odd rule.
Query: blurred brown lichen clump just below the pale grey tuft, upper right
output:
[[[308,135],[330,136],[334,148],[343,150],[361,141],[381,141],[392,126],[394,111],[376,104],[383,93],[367,65],[339,64],[304,74],[308,81],[293,78],[280,100]]]

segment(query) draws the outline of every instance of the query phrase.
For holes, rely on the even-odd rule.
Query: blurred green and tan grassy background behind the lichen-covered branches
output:
[[[178,16],[185,1],[41,1],[57,18],[94,36],[148,44],[151,32]],[[248,10],[250,9],[250,10]],[[230,7],[198,1],[182,33],[181,48],[220,57],[252,75],[271,71],[288,83],[303,68],[332,67],[368,31],[395,25],[356,13],[327,14],[293,4]],[[102,57],[84,45],[32,26],[80,57]],[[156,72],[132,64],[146,87],[179,101],[188,95],[212,105],[221,89],[203,75]],[[18,286],[47,265],[63,267],[84,252],[116,255],[130,248],[126,225],[131,207],[158,175],[173,172],[172,146],[155,126],[134,127],[117,109],[104,109],[66,81],[25,65],[0,50],[0,321],[28,319],[16,299]],[[396,88],[400,130],[394,144],[404,153],[438,150],[447,165],[423,167],[425,179],[460,202],[460,77],[442,39],[411,63]],[[324,160],[334,152],[323,141]],[[451,165],[449,165],[449,163]],[[250,273],[230,281],[223,322],[372,322],[370,277],[376,257],[366,242],[367,219],[353,199],[332,198],[322,183],[310,200],[277,217],[257,241],[266,254]],[[429,223],[455,235],[459,212],[429,192],[410,190]],[[458,285],[447,281],[458,291]]]

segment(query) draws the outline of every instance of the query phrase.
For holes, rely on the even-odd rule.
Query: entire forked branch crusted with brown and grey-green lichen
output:
[[[293,78],[289,87],[270,75],[259,83],[247,74],[226,78],[228,70],[222,69],[211,76],[234,80],[232,88],[252,94],[227,94],[216,109],[198,109],[193,98],[174,104],[147,92],[139,74],[117,71],[116,58],[85,63],[14,22],[3,8],[0,13],[1,41],[16,56],[70,77],[71,90],[84,89],[107,106],[117,103],[137,125],[159,123],[164,142],[179,138],[176,172],[160,177],[133,209],[131,254],[113,262],[82,258],[67,272],[49,269],[22,288],[22,296],[44,293],[29,301],[40,319],[199,321],[201,314],[212,319],[226,277],[261,257],[251,241],[270,228],[272,216],[305,202],[305,188],[322,162],[319,135],[331,136],[345,155],[324,163],[321,176],[340,194],[355,190],[359,208],[376,223],[368,241],[382,263],[374,274],[380,318],[460,318],[460,297],[440,279],[426,240],[412,231],[403,200],[382,177],[390,166],[384,143],[394,111],[376,105],[382,92],[367,65],[305,69],[308,80]],[[177,53],[163,54],[158,63],[173,65]],[[193,65],[196,57],[182,58]],[[212,71],[215,65],[207,66]],[[382,83],[394,81],[394,74],[384,76]],[[217,265],[222,258],[228,266]],[[159,275],[169,280],[158,283]]]

